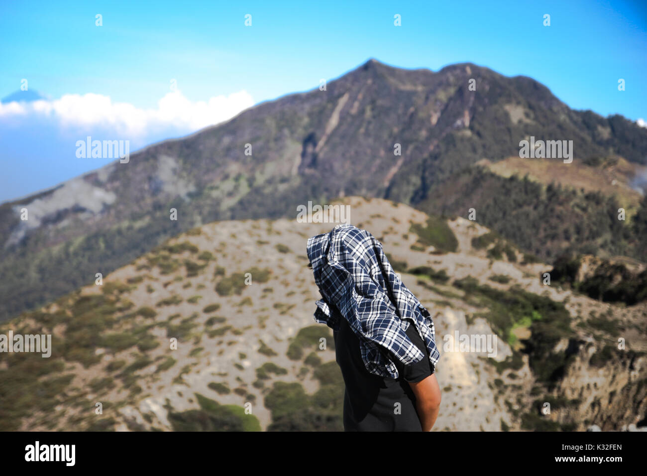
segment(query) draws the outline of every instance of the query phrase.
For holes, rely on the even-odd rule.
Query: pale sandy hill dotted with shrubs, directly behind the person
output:
[[[435,429],[645,425],[647,302],[545,286],[551,266],[464,218],[384,199],[338,204],[433,316]],[[305,256],[307,238],[333,226],[201,225],[3,323],[4,335],[52,334],[52,347],[49,358],[0,361],[0,430],[342,429],[344,385],[331,331],[313,321],[319,291]],[[481,337],[490,354],[473,348]]]

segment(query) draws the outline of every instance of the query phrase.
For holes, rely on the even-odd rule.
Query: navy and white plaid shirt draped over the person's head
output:
[[[338,319],[346,319],[360,339],[362,360],[371,374],[398,377],[384,348],[404,365],[421,361],[424,354],[405,332],[410,323],[435,367],[440,354],[432,317],[397,277],[372,234],[347,223],[337,225],[309,238],[307,253],[322,295],[314,320],[338,330]]]

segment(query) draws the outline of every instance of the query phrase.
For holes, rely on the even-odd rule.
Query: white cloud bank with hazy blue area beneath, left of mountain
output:
[[[15,95],[14,95],[15,96]],[[219,124],[254,105],[247,91],[192,101],[179,90],[137,108],[100,94],[0,102],[0,203],[50,188],[113,158],[76,157],[77,141],[129,141],[140,148]]]

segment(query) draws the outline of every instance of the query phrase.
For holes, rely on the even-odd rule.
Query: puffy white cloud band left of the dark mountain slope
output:
[[[159,130],[199,130],[231,119],[253,105],[252,96],[244,90],[197,102],[189,100],[179,90],[173,91],[157,102],[157,109],[139,109],[127,102],[113,102],[109,96],[100,94],[69,94],[54,100],[0,103],[0,119],[33,116],[82,130],[99,126],[135,138]]]

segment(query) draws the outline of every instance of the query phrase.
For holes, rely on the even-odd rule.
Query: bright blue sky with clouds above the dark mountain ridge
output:
[[[394,14],[402,27],[393,26]],[[473,62],[531,76],[571,108],[647,119],[646,53],[644,1],[3,2],[0,97],[23,78],[52,100],[72,96],[46,117],[0,115],[0,166],[8,172],[0,201],[109,162],[74,157],[75,140],[86,134],[139,148],[313,89],[368,58],[434,71]],[[626,91],[618,91],[619,78]],[[181,95],[162,108],[171,79]],[[210,98],[219,99],[199,104]],[[109,112],[83,114],[104,106]],[[142,113],[137,132],[121,117],[137,116],[128,108],[153,111]],[[201,120],[181,117],[184,109]]]

